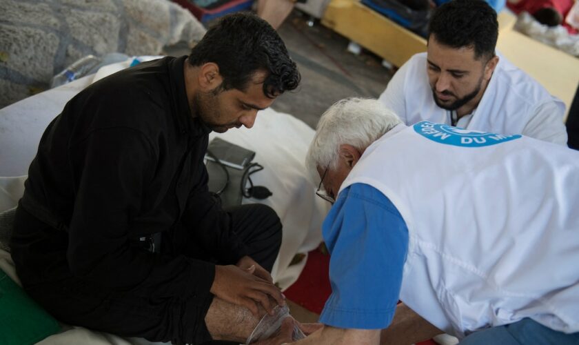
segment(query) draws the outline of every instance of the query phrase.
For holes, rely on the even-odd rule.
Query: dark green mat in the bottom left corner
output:
[[[0,344],[35,344],[60,326],[0,269]]]

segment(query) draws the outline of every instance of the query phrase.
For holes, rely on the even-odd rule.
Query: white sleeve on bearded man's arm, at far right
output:
[[[567,129],[563,123],[565,107],[555,101],[542,103],[527,122],[522,134],[527,137],[567,146]]]

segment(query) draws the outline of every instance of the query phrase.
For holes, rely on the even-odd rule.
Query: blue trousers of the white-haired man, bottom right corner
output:
[[[576,345],[579,344],[579,333],[565,334],[553,331],[532,319],[522,319],[514,324],[497,326],[478,331],[465,337],[460,345],[483,344],[544,344]]]

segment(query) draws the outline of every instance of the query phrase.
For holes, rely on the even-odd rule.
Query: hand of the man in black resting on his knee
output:
[[[259,317],[257,303],[260,303],[267,313],[273,313],[275,303],[270,302],[270,296],[283,306],[285,304],[283,294],[271,282],[254,275],[255,269],[256,266],[243,270],[234,265],[216,265],[215,279],[210,292],[226,302],[245,306],[256,317]]]

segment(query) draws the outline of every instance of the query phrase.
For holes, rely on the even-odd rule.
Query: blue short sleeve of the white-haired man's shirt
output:
[[[408,229],[383,193],[367,184],[342,190],[323,226],[330,253],[329,296],[320,322],[339,328],[386,328],[398,303]]]

